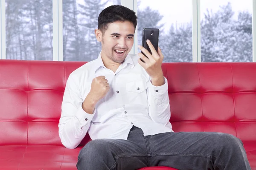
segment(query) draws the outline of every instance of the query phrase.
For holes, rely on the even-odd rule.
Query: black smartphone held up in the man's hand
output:
[[[150,42],[154,46],[155,50],[157,51],[157,49],[158,49],[158,37],[159,37],[159,29],[157,29],[157,28],[143,28],[141,46],[146,48],[148,50],[148,52],[150,52],[150,54],[152,54],[150,48],[148,47],[148,44],[147,44],[146,40],[150,40]],[[147,57],[142,51],[141,51],[141,53],[145,57]],[[143,59],[140,59],[140,60],[142,62],[144,62]]]

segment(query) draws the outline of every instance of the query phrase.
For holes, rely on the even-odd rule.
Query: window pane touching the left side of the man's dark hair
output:
[[[99,56],[101,43],[94,30],[99,13],[121,0],[63,0],[63,60],[91,61]]]

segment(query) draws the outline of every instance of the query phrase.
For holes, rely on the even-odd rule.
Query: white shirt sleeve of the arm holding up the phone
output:
[[[171,117],[170,101],[168,94],[168,82],[164,77],[165,83],[161,86],[154,86],[148,81],[148,107],[150,118],[159,124],[167,125]]]

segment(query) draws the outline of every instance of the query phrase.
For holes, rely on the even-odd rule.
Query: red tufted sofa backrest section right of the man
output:
[[[174,131],[256,142],[256,63],[165,63]]]

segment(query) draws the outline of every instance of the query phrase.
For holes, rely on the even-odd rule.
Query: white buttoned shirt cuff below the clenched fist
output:
[[[90,122],[92,121],[93,119],[93,116],[95,115],[96,113],[96,108],[94,108],[94,111],[93,111],[93,114],[89,114],[89,113],[86,113],[84,111],[84,109],[82,108],[82,106],[78,109],[78,111],[76,112],[76,118],[79,120],[80,122],[80,126],[79,128],[82,128],[84,125],[87,125],[89,124],[90,125]]]

